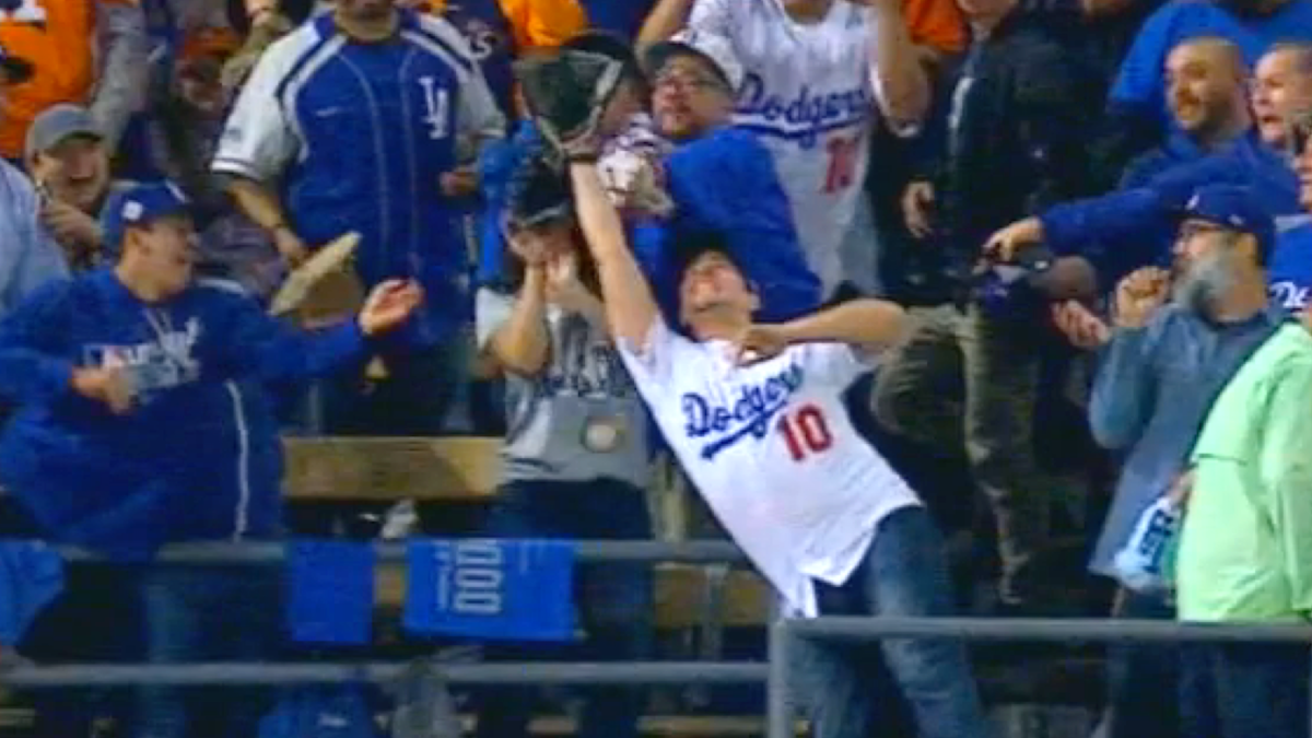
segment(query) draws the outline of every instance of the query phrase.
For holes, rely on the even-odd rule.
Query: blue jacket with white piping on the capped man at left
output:
[[[118,559],[176,541],[278,533],[281,446],[260,381],[358,360],[356,322],[303,334],[252,301],[197,284],[147,305],[113,271],[47,285],[0,322],[0,482],[56,542]],[[71,389],[75,368],[119,366],[125,415]]]

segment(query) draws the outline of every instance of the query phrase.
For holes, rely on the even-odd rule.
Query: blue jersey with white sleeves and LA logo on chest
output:
[[[462,144],[502,131],[468,43],[446,21],[403,12],[391,38],[363,43],[323,14],[261,56],[213,168],[281,183],[307,244],[359,232],[366,284],[415,277],[430,295],[458,295],[463,207],[442,193],[442,175],[472,158]],[[466,315],[462,299],[429,299],[416,328],[436,343]]]

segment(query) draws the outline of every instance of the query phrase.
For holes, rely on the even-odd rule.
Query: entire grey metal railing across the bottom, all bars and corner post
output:
[[[404,561],[404,542],[374,542],[379,561]],[[97,561],[80,550],[59,549],[72,562]],[[727,541],[577,541],[579,561],[710,563],[745,561]],[[169,565],[272,565],[286,557],[283,544],[193,544],[168,546]],[[798,640],[878,641],[883,638],[960,638],[964,641],[1059,642],[1283,642],[1312,647],[1312,628],[1281,625],[1204,625],[1143,620],[1027,620],[966,617],[817,617],[777,620],[770,626],[768,662],[621,662],[621,663],[455,663],[437,664],[457,684],[760,684],[766,683],[768,738],[795,735],[790,688],[792,647]],[[0,684],[24,688],[121,684],[316,684],[384,683],[400,678],[407,662],[375,663],[194,663],[17,666]],[[1312,725],[1312,714],[1308,716]]]

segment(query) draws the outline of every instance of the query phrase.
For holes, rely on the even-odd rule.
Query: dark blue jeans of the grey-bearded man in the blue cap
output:
[[[1113,617],[1174,620],[1161,597],[1122,590]],[[1174,643],[1107,646],[1106,738],[1185,738],[1179,731],[1179,647]],[[1187,738],[1193,738],[1189,735]]]

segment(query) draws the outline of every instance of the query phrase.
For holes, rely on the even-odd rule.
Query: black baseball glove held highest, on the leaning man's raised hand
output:
[[[529,113],[567,160],[596,162],[597,129],[625,77],[623,63],[592,51],[565,50],[516,64]]]

